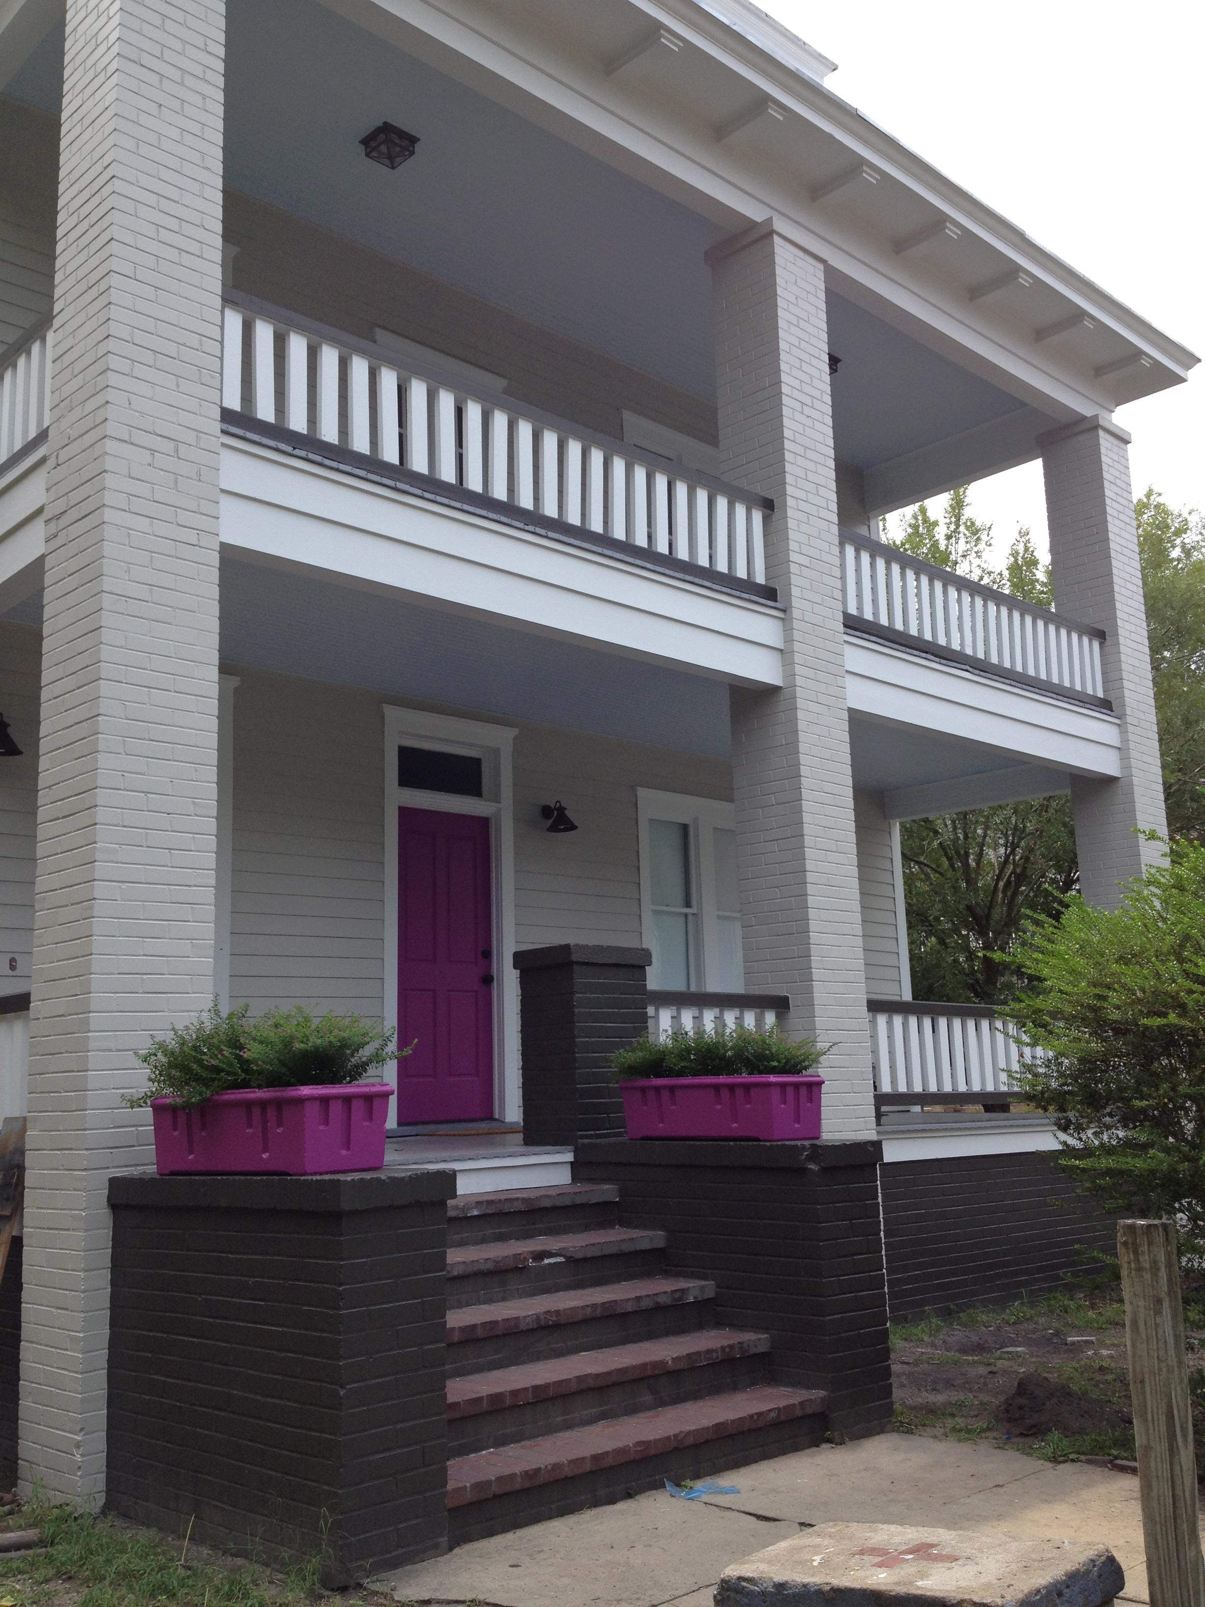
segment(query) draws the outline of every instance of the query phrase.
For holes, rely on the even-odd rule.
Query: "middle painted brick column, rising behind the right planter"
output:
[[[832,1045],[824,1136],[874,1135],[832,461],[824,264],[760,223],[715,246],[721,474],[774,498],[784,686],[733,689],[745,985]]]

